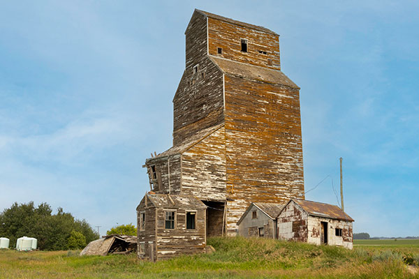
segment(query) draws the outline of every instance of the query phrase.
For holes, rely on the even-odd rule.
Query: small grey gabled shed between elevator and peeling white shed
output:
[[[252,202],[237,222],[239,235],[277,239],[277,216],[285,204]]]

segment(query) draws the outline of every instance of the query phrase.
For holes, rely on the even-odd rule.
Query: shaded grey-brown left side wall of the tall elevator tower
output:
[[[173,98],[173,145],[223,121],[223,73],[206,55],[206,26],[206,18],[194,13],[186,29],[186,69]]]

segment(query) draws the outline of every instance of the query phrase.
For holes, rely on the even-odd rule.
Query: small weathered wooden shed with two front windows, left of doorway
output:
[[[137,206],[138,257],[155,261],[205,252],[206,209],[196,197],[147,193]]]

